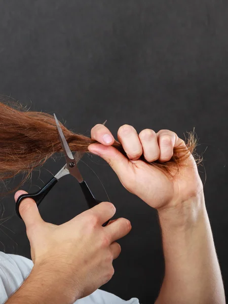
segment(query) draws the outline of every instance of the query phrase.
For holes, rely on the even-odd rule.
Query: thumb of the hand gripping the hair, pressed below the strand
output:
[[[126,176],[129,170],[129,160],[113,146],[105,146],[101,143],[92,143],[88,150],[104,159],[109,166],[117,173],[119,178]]]

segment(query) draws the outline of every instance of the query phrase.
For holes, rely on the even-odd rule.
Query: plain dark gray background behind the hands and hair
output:
[[[123,124],[138,132],[171,129],[180,137],[196,127],[198,151],[206,149],[200,171],[205,180],[206,170],[206,204],[225,284],[227,6],[221,0],[0,1],[0,93],[32,110],[55,112],[68,128],[87,135],[106,119],[115,136]],[[108,200],[103,184],[116,216],[132,223],[120,240],[116,273],[102,289],[152,303],[164,272],[156,212],[128,193],[103,160],[83,161],[89,167],[81,163],[80,169],[95,196]],[[23,189],[36,190],[51,177],[48,170],[56,173],[63,163],[50,160]],[[12,195],[1,203],[3,217],[11,215]],[[58,224],[85,209],[69,176],[40,208],[45,220]],[[30,257],[23,222],[16,216],[3,222],[1,250]]]

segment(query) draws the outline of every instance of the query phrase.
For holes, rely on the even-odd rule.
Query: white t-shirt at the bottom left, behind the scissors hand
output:
[[[15,255],[6,254],[0,251],[0,304],[4,304],[7,299],[20,287],[27,278],[33,263],[30,259]],[[128,301],[120,297],[97,289],[92,294],[77,300],[79,304],[139,304],[137,298]],[[64,304],[64,303],[63,303]]]

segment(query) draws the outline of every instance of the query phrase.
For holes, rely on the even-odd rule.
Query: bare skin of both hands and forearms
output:
[[[107,135],[111,136],[108,143],[103,139]],[[169,130],[155,133],[145,129],[137,134],[132,126],[124,125],[118,130],[118,140],[126,158],[111,146],[114,138],[105,126],[93,127],[91,137],[100,143],[91,144],[89,150],[111,166],[129,192],[158,210],[165,277],[156,303],[225,303],[203,185],[194,158],[190,156],[172,179],[139,160],[143,154],[149,162],[166,162],[172,157],[173,148],[184,145],[184,141]],[[17,192],[15,199],[20,194]],[[111,203],[102,202],[59,226],[44,222],[31,199],[24,200],[19,211],[26,225],[34,267],[8,304],[73,303],[111,279],[112,260],[121,251],[116,241],[131,230],[130,222],[124,218],[101,226],[115,214]],[[38,289],[37,284],[42,288]]]

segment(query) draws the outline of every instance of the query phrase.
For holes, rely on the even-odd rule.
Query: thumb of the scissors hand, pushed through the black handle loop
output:
[[[14,199],[17,201],[18,197],[22,194],[27,194],[27,192],[23,190],[19,190],[15,193]],[[30,198],[26,198],[22,200],[19,206],[20,215],[28,228],[30,225],[37,224],[43,222],[43,219],[40,215],[40,212],[37,208],[37,205],[34,200]]]

